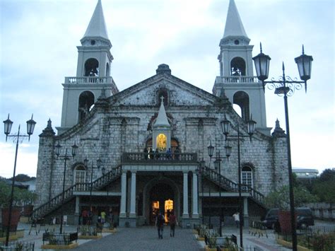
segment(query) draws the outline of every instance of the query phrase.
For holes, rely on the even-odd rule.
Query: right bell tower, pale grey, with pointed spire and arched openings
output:
[[[257,76],[254,76],[252,48],[245,33],[234,0],[230,0],[225,31],[220,41],[220,76],[216,77],[213,94],[226,95],[231,103],[240,107],[242,119],[257,122],[256,129],[270,136],[266,127],[265,96]]]

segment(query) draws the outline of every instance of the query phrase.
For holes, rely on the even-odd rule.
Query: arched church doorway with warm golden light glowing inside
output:
[[[165,222],[168,222],[170,212],[175,210],[176,206],[175,192],[172,187],[165,182],[160,182],[151,187],[148,195],[149,223],[151,225],[155,223],[155,215],[159,211],[164,213]]]

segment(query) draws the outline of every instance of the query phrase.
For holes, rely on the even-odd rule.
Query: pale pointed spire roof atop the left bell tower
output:
[[[98,0],[98,4],[95,7],[93,16],[90,18],[90,23],[83,37],[102,37],[109,40],[101,0]]]

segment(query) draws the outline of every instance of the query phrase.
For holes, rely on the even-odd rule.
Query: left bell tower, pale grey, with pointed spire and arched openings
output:
[[[75,77],[65,77],[61,127],[58,134],[85,119],[103,92],[107,97],[118,93],[110,76],[113,56],[102,11],[101,0],[95,7],[85,35],[78,46],[78,63]]]

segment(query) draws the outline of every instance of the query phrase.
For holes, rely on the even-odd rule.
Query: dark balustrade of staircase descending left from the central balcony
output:
[[[108,185],[110,182],[117,180],[118,177],[121,176],[122,166],[118,165],[115,168],[112,168],[110,172],[105,173],[97,180],[92,182],[92,189],[99,190]],[[32,213],[33,218],[44,218],[48,214],[52,213],[52,211],[58,209],[60,206],[69,202],[71,199],[74,198],[74,192],[78,191],[90,191],[91,183],[76,183],[75,185],[69,187],[64,192],[61,192],[56,197],[50,199],[45,204],[38,206]]]

